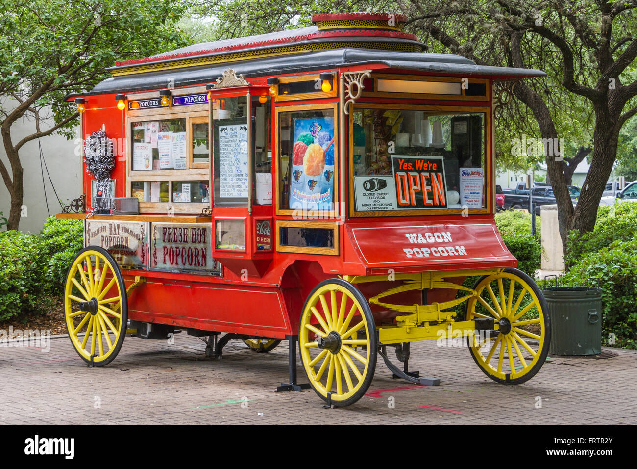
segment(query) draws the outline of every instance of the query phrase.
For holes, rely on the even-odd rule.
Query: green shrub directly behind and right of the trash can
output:
[[[562,274],[560,283],[586,285],[587,278],[598,278],[593,285],[602,289],[604,345],[637,349],[637,235],[631,234],[630,241],[624,241],[624,234],[618,233],[618,241],[601,249],[587,249]],[[615,334],[615,344],[609,343],[611,333]]]

